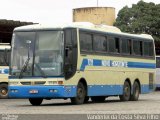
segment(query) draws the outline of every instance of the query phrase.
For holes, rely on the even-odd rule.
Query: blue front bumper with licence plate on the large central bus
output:
[[[9,98],[69,98],[76,86],[9,86]]]

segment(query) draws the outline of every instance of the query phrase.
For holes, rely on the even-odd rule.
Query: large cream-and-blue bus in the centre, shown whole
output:
[[[9,97],[32,105],[44,99],[83,104],[109,96],[137,101],[155,89],[152,36],[116,27],[75,22],[14,29]]]

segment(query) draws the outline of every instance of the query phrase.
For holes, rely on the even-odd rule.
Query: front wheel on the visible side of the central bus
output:
[[[77,85],[76,97],[71,98],[71,103],[75,105],[80,105],[84,103],[86,97],[86,89],[82,82]]]

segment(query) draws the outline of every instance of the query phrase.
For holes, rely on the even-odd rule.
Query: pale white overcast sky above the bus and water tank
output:
[[[98,7],[114,7],[116,14],[124,6],[139,0],[98,0]],[[143,0],[160,4],[160,0]],[[0,19],[34,23],[72,22],[72,10],[97,7],[97,0],[0,0]]]

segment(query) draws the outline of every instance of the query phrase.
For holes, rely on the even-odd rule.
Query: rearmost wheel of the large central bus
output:
[[[139,98],[139,94],[140,94],[140,86],[139,86],[138,82],[135,81],[133,84],[133,94],[131,95],[130,100],[137,101]]]

